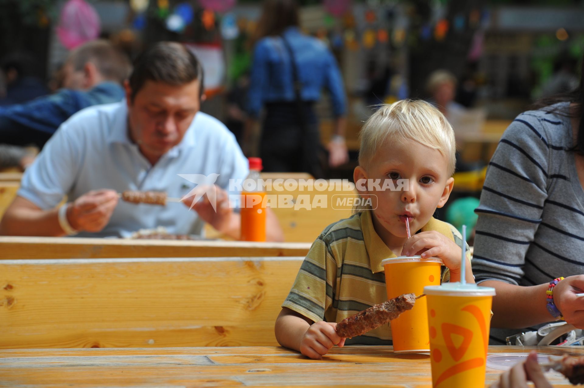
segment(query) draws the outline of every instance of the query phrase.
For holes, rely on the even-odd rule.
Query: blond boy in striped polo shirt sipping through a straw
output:
[[[432,217],[454,185],[456,146],[446,118],[429,103],[402,100],[381,106],[363,125],[360,138],[353,178],[361,182],[357,190],[371,206],[318,236],[276,320],[280,345],[314,359],[334,345],[391,344],[389,325],[351,339],[335,331],[345,317],[387,299],[384,258],[439,257],[450,280],[460,280],[460,233]],[[367,184],[375,180],[381,184]],[[395,184],[384,185],[386,180]],[[378,190],[384,186],[398,190]],[[467,271],[467,281],[474,282],[472,271]]]

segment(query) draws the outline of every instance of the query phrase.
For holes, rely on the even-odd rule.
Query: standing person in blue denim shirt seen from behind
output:
[[[318,117],[314,104],[321,89],[328,89],[334,119],[328,144],[332,167],[348,159],[345,145],[346,97],[335,57],[325,44],[300,30],[294,0],[267,0],[256,30],[253,48],[248,113],[265,118],[259,153],[266,172],[308,172],[324,175]],[[252,124],[248,124],[248,130]],[[246,138],[249,137],[249,132]]]

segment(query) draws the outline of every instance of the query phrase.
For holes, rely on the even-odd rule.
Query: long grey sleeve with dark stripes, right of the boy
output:
[[[481,193],[472,268],[477,283],[519,284],[548,197],[550,148],[537,116],[521,114],[503,134]]]

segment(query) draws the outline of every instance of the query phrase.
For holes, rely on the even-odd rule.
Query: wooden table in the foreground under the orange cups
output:
[[[489,347],[489,354],[530,347]],[[582,347],[540,347],[542,354],[581,355]],[[487,386],[501,370],[487,369]],[[557,372],[554,388],[572,387]],[[0,351],[1,387],[291,387],[430,388],[427,355],[391,347],[333,348],[311,360],[281,347],[24,349]]]

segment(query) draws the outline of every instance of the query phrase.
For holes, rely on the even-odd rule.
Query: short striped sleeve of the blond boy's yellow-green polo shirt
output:
[[[332,305],[337,268],[328,240],[319,236],[304,258],[282,307],[314,322],[325,320],[325,311]]]

